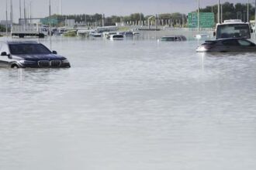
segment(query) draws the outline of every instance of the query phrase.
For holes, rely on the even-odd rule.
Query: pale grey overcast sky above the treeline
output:
[[[10,8],[8,1],[8,8]],[[22,16],[23,16],[23,1]],[[26,8],[29,11],[29,3],[32,6],[34,18],[45,17],[49,14],[49,0],[25,0]],[[220,0],[221,1],[221,0]],[[223,2],[247,3],[247,0],[229,0]],[[5,19],[6,0],[0,0],[0,20]],[[51,0],[52,13],[59,13],[60,0]],[[216,5],[218,0],[200,0],[200,7]],[[252,2],[252,0],[250,1]],[[19,0],[12,0],[13,15],[15,21],[19,18]],[[197,0],[62,0],[63,14],[95,14],[104,13],[109,15],[130,15],[134,12],[147,14],[158,14],[165,12],[192,12],[197,8]],[[9,11],[9,9],[8,9]]]

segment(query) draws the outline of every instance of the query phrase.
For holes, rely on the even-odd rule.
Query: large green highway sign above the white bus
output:
[[[189,28],[198,27],[198,13],[191,12],[188,15]],[[213,12],[199,12],[199,28],[215,27]]]

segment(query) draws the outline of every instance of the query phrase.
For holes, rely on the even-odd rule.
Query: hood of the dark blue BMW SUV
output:
[[[26,59],[26,60],[54,60],[54,59],[66,59],[64,56],[56,54],[26,54],[26,55],[12,55],[12,59]]]

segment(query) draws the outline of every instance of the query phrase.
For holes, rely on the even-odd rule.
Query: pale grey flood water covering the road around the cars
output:
[[[256,54],[196,46],[59,37],[70,69],[1,69],[0,169],[254,170]]]

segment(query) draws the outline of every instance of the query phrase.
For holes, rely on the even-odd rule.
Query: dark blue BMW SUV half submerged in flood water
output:
[[[34,41],[0,42],[0,67],[69,68],[64,56]]]

